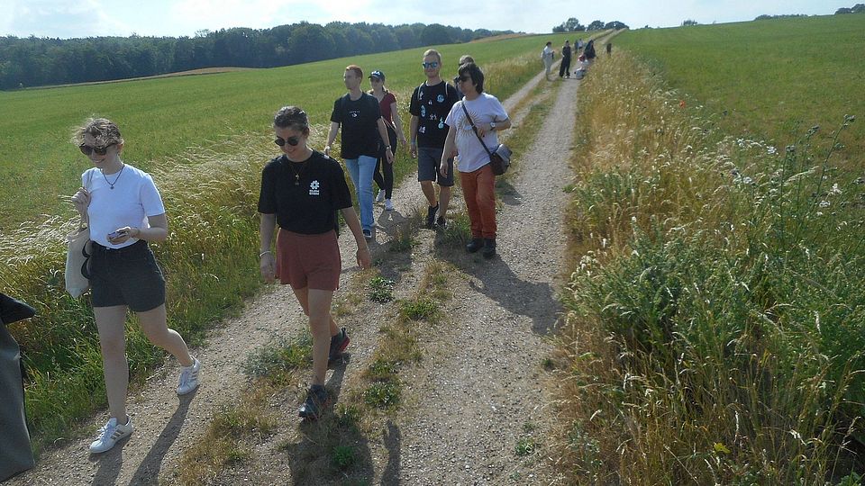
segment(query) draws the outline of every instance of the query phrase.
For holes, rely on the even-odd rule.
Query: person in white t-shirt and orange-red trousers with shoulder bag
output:
[[[484,257],[492,258],[496,256],[496,175],[478,135],[487,148],[495,150],[496,132],[509,129],[511,120],[496,96],[484,93],[484,73],[477,64],[464,64],[459,73],[460,89],[465,96],[453,105],[444,121],[449,130],[442,158],[452,157],[454,148],[460,153],[460,183],[471,220],[471,241],[466,250],[475,253],[483,248]],[[477,127],[477,135],[466,112]],[[441,170],[447,176],[448,165],[443,164]]]

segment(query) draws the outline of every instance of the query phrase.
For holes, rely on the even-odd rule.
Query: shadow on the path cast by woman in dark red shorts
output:
[[[345,355],[326,383],[334,404],[339,403],[345,362],[349,360],[351,355]],[[351,412],[330,407],[321,419],[302,421],[298,433],[296,443],[280,446],[293,484],[339,484],[347,478],[361,483],[372,481],[374,465],[369,441],[354,424]],[[322,472],[332,473],[323,477]]]

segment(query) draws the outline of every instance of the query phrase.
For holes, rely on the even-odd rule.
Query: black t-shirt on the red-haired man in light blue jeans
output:
[[[341,124],[341,157],[357,158],[362,155],[378,158],[378,119],[381,107],[372,94],[362,93],[352,101],[346,93],[333,102],[331,121]]]

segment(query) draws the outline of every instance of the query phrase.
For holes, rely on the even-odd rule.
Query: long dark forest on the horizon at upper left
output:
[[[65,85],[188,71],[202,67],[277,67],[513,31],[438,23],[293,23],[272,29],[198,31],[194,37],[0,37],[0,89]]]

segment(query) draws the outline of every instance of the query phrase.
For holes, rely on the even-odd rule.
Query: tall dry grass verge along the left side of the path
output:
[[[484,43],[486,50],[478,51],[499,58],[512,52],[511,49],[522,52],[527,45],[518,43],[515,48],[499,45],[498,48],[503,50],[496,57],[493,57],[496,42]],[[454,52],[474,53],[473,44],[446,49],[454,62],[458,57]],[[378,56],[375,66],[385,66],[382,68],[386,70],[393,67],[393,59],[384,60]],[[421,53],[405,54],[405,58],[409,57],[419,62]],[[367,59],[367,63],[372,64],[372,59]],[[337,73],[341,74],[345,60],[335,63],[328,69],[338,66]],[[517,55],[514,59],[491,62],[485,68],[496,85],[496,94],[504,98],[539,72],[540,63],[536,58]],[[407,77],[399,80],[396,76],[399,71],[391,70],[387,74],[388,81],[392,74],[395,75],[392,85],[403,90],[398,91],[397,96],[400,103],[407,104],[417,78],[415,75],[423,73],[420,67],[405,67],[405,70],[414,73],[412,85]],[[509,74],[502,74],[505,72]],[[259,76],[273,81],[268,73],[259,73]],[[315,83],[320,83],[320,80],[316,79]],[[111,89],[116,88],[112,85]],[[245,91],[237,86],[234,90]],[[51,91],[40,90],[40,93]],[[190,103],[204,103],[201,94],[186,92],[186,95],[190,96]],[[162,103],[155,99],[156,94],[152,96],[150,101]],[[320,101],[319,96],[312,88],[298,88],[290,100],[274,102],[273,99],[282,98],[271,98],[269,103],[277,104],[258,113],[262,117],[260,124],[267,126],[271,112],[285,101],[305,106],[313,121],[324,121],[326,112],[329,112],[328,105],[336,95],[327,102]],[[205,101],[212,104],[209,98]],[[148,101],[144,99],[140,103],[145,105]],[[160,108],[158,112],[167,110],[167,107]],[[167,116],[167,113],[159,116]],[[408,117],[403,119],[407,130]],[[194,132],[200,126],[193,119],[179,120],[173,125],[178,133]],[[267,129],[242,131],[229,127],[224,130],[227,134],[215,138],[223,141],[190,137],[185,143],[194,142],[191,146],[178,148],[177,153],[168,155],[164,151],[176,147],[177,143],[168,140],[168,148],[153,148],[163,150],[154,152],[159,154],[156,160],[146,164],[131,160],[154,176],[168,210],[169,238],[152,247],[168,284],[169,326],[178,329],[193,344],[226,312],[237,309],[243,299],[259,286],[256,263],[258,215],[255,211],[259,174],[261,166],[278,154],[278,150]],[[324,123],[314,124],[311,137],[314,147],[323,146],[326,130]],[[134,135],[125,132],[124,135],[130,141],[135,139]],[[395,167],[397,183],[411,174],[415,167],[406,154],[407,150],[400,148]],[[81,169],[74,168],[77,172]],[[70,177],[74,182],[78,175]],[[52,189],[51,197],[56,197],[53,194],[58,192],[59,189]],[[7,231],[0,245],[0,259],[7,262],[7,266],[0,267],[0,286],[6,289],[6,293],[31,303],[39,312],[36,318],[12,328],[22,345],[28,372],[28,417],[37,451],[58,437],[68,436],[70,428],[78,420],[105,406],[102,359],[92,310],[87,298],[72,299],[63,288],[64,236],[75,223],[76,219],[60,217],[44,222],[26,222]],[[133,381],[138,382],[164,356],[150,346],[134,322],[127,324],[127,354]]]

